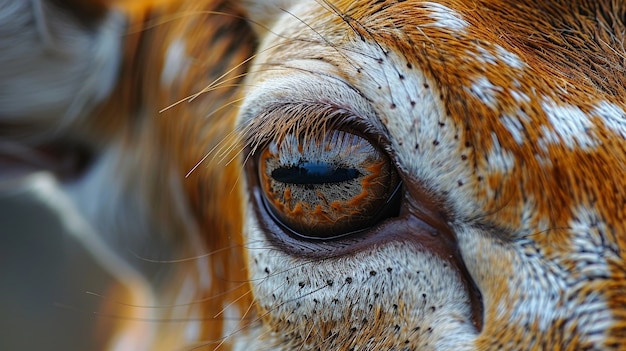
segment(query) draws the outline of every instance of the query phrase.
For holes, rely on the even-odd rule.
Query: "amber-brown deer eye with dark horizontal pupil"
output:
[[[367,139],[333,130],[289,134],[259,156],[264,202],[274,219],[305,239],[335,239],[392,215],[400,187],[390,159]]]

